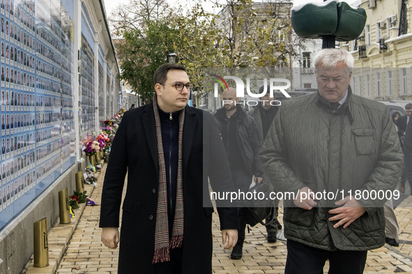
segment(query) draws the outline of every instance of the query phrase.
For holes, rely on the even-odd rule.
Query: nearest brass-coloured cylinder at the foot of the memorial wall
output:
[[[49,266],[49,240],[47,234],[47,218],[33,223],[34,234],[34,266]]]

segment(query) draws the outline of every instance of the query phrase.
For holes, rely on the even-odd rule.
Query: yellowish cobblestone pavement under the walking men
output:
[[[100,204],[104,172],[105,168],[91,196],[97,204]],[[399,248],[385,245],[368,252],[365,273],[412,273],[412,196],[395,209],[395,214],[401,229]],[[100,207],[84,209],[56,273],[117,273],[119,249],[109,250],[100,242],[99,215]],[[282,223],[282,210],[278,220]],[[223,250],[217,214],[213,216],[213,236],[214,273],[284,273],[286,242],[268,243],[263,226],[252,227],[246,234],[241,260],[231,260],[231,251]]]

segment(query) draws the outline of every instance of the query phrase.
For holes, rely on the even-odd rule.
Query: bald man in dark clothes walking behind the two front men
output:
[[[228,88],[222,93],[223,107],[215,113],[219,124],[224,149],[229,159],[231,177],[235,191],[247,192],[252,184],[254,175],[257,183],[261,182],[263,172],[257,154],[261,148],[261,136],[256,122],[248,116],[239,104],[236,90]],[[241,259],[243,256],[243,242],[246,229],[245,204],[238,208],[239,225],[238,242],[231,252],[231,259]]]

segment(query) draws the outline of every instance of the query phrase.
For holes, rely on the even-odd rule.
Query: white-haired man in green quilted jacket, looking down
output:
[[[385,243],[383,204],[394,198],[402,152],[388,108],[353,95],[353,57],[323,49],[318,92],[282,102],[261,152],[284,195],[285,273],[363,273]]]

